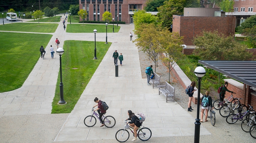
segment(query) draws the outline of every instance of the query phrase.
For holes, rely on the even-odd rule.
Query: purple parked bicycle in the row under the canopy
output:
[[[249,104],[248,104],[249,105]],[[250,105],[249,105],[250,106]],[[228,124],[234,124],[235,122],[237,122],[238,120],[242,121],[242,119],[244,118],[244,116],[249,117],[250,115],[250,111],[253,110],[253,107],[250,106],[249,110],[247,110],[245,113],[241,113],[239,112],[238,114],[230,114],[229,116],[227,116],[226,118],[226,122]]]

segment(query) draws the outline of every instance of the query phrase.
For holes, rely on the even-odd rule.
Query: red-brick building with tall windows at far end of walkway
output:
[[[102,21],[102,14],[109,11],[115,18],[114,21],[133,23],[133,11],[143,10],[145,2],[146,0],[79,0],[79,9],[87,11],[87,21]]]

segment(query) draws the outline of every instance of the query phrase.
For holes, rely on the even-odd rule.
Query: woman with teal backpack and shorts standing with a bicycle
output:
[[[208,98],[208,104],[207,104],[207,107],[204,107],[203,105],[203,101],[205,100],[204,98]],[[207,99],[206,99],[207,100]],[[201,107],[201,120],[200,122],[203,122],[203,112],[204,110],[206,110],[206,116],[205,116],[205,120],[204,122],[207,122],[207,117],[208,117],[208,111],[209,111],[209,108],[212,108],[213,109],[213,105],[212,105],[212,97],[209,96],[209,91],[206,91],[206,95],[204,95],[202,97],[202,107]]]

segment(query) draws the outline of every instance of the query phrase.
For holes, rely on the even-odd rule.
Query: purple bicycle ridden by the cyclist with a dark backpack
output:
[[[94,111],[94,108],[92,108],[92,114],[89,116],[86,116],[84,119],[85,126],[93,127],[97,122],[95,116],[100,121],[100,118],[99,118],[100,115]],[[114,119],[113,116],[104,116],[103,115],[102,120],[103,120],[105,126],[108,128],[112,128],[114,125],[116,125],[116,119]]]

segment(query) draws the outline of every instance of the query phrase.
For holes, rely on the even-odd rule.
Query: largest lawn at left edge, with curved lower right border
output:
[[[40,46],[46,47],[51,38],[49,34],[0,32],[0,92],[22,86],[39,59]]]

